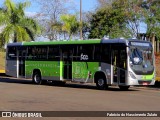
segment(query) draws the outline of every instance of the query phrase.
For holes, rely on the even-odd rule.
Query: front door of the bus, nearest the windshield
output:
[[[124,84],[126,79],[126,48],[123,45],[112,47],[113,83]]]

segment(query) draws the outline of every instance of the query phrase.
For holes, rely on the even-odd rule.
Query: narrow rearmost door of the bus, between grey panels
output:
[[[25,48],[19,48],[18,50],[18,58],[19,58],[19,76],[25,76]]]

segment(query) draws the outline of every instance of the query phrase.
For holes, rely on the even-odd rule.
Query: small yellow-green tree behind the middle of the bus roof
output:
[[[61,21],[63,22],[62,30],[69,34],[69,39],[71,40],[72,35],[78,32],[80,26],[76,15],[62,15]]]

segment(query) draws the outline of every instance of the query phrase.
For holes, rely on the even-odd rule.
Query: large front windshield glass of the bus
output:
[[[153,73],[153,51],[143,47],[130,47],[130,66],[137,74]]]

